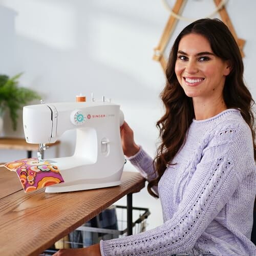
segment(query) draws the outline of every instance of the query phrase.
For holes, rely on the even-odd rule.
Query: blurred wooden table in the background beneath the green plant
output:
[[[57,140],[54,143],[46,144],[47,146],[55,146],[60,143]],[[32,151],[38,151],[38,144],[27,143],[25,139],[22,138],[0,138],[0,149],[2,150],[26,150],[27,158],[31,158]]]

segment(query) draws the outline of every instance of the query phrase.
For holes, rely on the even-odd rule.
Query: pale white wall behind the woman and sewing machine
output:
[[[169,1],[170,6],[174,3]],[[183,15],[201,18],[214,8],[210,0],[189,0]],[[232,0],[226,9],[238,36],[246,40],[245,80],[256,98],[252,26],[256,2]],[[156,0],[0,0],[0,73],[12,76],[23,71],[22,86],[38,91],[46,102],[75,101],[80,92],[89,99],[91,92],[98,99],[112,98],[121,105],[137,143],[154,156],[155,123],[162,113],[159,93],[165,79],[152,56],[168,16]],[[178,23],[173,39],[188,23]],[[10,127],[6,114],[2,136],[23,137],[21,118],[17,132]],[[73,131],[61,137],[59,156],[72,155],[74,139]],[[55,153],[50,148],[46,157]],[[25,152],[1,150],[0,162],[25,156]],[[130,164],[126,169],[134,170]],[[145,189],[134,195],[134,205],[150,207],[149,228],[161,224],[159,200]]]

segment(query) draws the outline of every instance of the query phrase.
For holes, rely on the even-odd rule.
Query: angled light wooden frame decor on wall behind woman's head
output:
[[[219,12],[222,21],[226,24],[226,26],[229,28],[230,32],[232,33],[232,35],[234,36],[234,39],[236,39],[238,46],[240,48],[241,51],[241,55],[242,57],[244,57],[244,52],[243,52],[243,47],[245,44],[245,40],[238,38],[236,31],[233,28],[233,25],[231,23],[231,20],[227,14],[227,11],[225,9],[225,4],[227,1],[224,0],[214,0],[215,5],[217,7],[216,12]],[[185,19],[185,17],[182,17],[179,15],[179,13],[181,13],[183,7],[185,6],[186,0],[176,0],[176,3],[173,6],[173,9],[170,10],[170,17],[167,21],[167,24],[165,25],[163,34],[161,36],[161,39],[159,41],[159,44],[156,48],[154,48],[154,56],[153,59],[157,60],[160,62],[163,70],[165,71],[166,69],[166,65],[167,65],[167,60],[165,59],[163,53],[165,48],[167,47],[167,44],[170,40],[170,37],[173,34],[173,31],[175,29],[175,26],[177,24],[177,20],[178,19]],[[216,12],[212,13],[215,14]],[[211,14],[211,15],[212,15]]]

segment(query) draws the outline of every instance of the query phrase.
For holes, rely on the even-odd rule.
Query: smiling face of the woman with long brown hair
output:
[[[193,100],[223,97],[225,77],[229,72],[228,61],[223,61],[212,52],[204,36],[190,33],[181,38],[175,73],[188,97],[193,97]]]

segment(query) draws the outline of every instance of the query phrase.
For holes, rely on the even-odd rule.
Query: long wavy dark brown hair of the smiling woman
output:
[[[185,143],[189,125],[195,117],[192,98],[187,97],[181,88],[176,74],[175,63],[181,38],[187,34],[196,33],[208,39],[216,56],[231,63],[232,70],[226,77],[223,97],[228,109],[239,109],[249,125],[253,138],[254,160],[256,158],[254,116],[252,106],[254,101],[243,81],[244,66],[236,40],[228,27],[219,19],[199,19],[185,27],[176,38],[169,54],[166,68],[166,84],[160,97],[165,107],[165,113],[157,122],[161,143],[154,159],[158,177],[147,185],[148,192],[158,197],[152,187],[157,185],[166,167],[172,163],[175,155]]]

